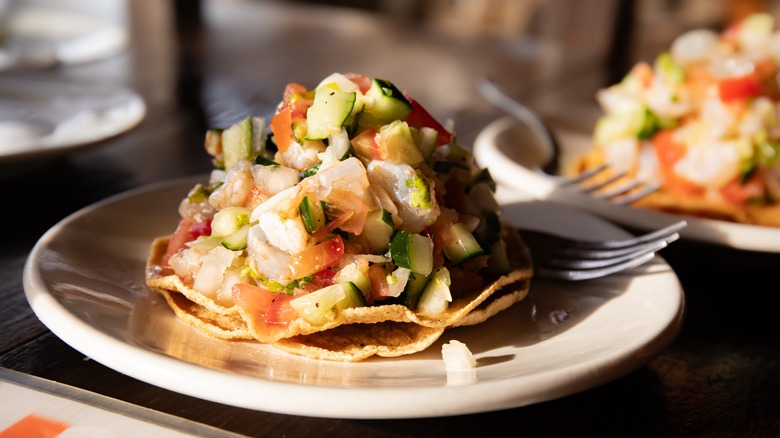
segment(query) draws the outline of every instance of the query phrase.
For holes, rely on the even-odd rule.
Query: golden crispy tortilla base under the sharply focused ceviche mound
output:
[[[513,270],[478,290],[459,296],[447,311],[425,317],[400,304],[344,309],[335,319],[314,325],[303,318],[288,326],[270,326],[259,313],[225,307],[192,289],[176,275],[162,275],[160,266],[168,238],[152,244],[147,284],[161,293],[176,316],[218,339],[256,339],[284,351],[313,359],[357,361],[367,357],[400,356],[422,351],[445,329],[474,325],[525,298],[532,276],[530,253],[511,226],[504,226]]]

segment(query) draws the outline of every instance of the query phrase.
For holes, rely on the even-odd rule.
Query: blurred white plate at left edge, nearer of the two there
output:
[[[146,114],[140,96],[113,84],[4,76],[0,96],[0,166],[94,146]]]

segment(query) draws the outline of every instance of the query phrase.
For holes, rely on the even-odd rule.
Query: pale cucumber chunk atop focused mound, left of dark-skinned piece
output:
[[[330,87],[316,90],[314,103],[306,110],[307,140],[322,140],[339,132],[352,114],[356,92],[346,92]]]

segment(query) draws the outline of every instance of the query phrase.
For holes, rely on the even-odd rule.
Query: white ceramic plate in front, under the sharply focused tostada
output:
[[[682,289],[657,258],[596,281],[538,281],[524,302],[484,324],[450,330],[429,350],[406,357],[334,363],[206,338],[144,285],[149,245],[174,229],[178,202],[194,182],[122,194],[49,230],[24,270],[27,299],[41,321],[92,359],[163,388],[250,409],[336,418],[466,414],[566,396],[642,366],[681,325]],[[517,223],[570,235],[625,235],[563,205],[504,201]],[[451,339],[474,353],[473,373],[447,373],[441,346]]]

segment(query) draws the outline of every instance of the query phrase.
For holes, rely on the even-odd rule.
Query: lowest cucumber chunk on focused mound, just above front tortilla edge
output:
[[[350,282],[336,283],[290,301],[299,316],[315,325],[333,321],[344,309],[365,305],[363,293]]]

